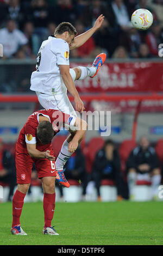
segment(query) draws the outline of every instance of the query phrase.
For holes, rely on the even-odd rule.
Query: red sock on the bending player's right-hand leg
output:
[[[46,194],[44,193],[43,197],[43,210],[44,210],[44,218],[45,218],[45,228],[51,227],[53,215],[55,209],[55,193],[54,194]]]

